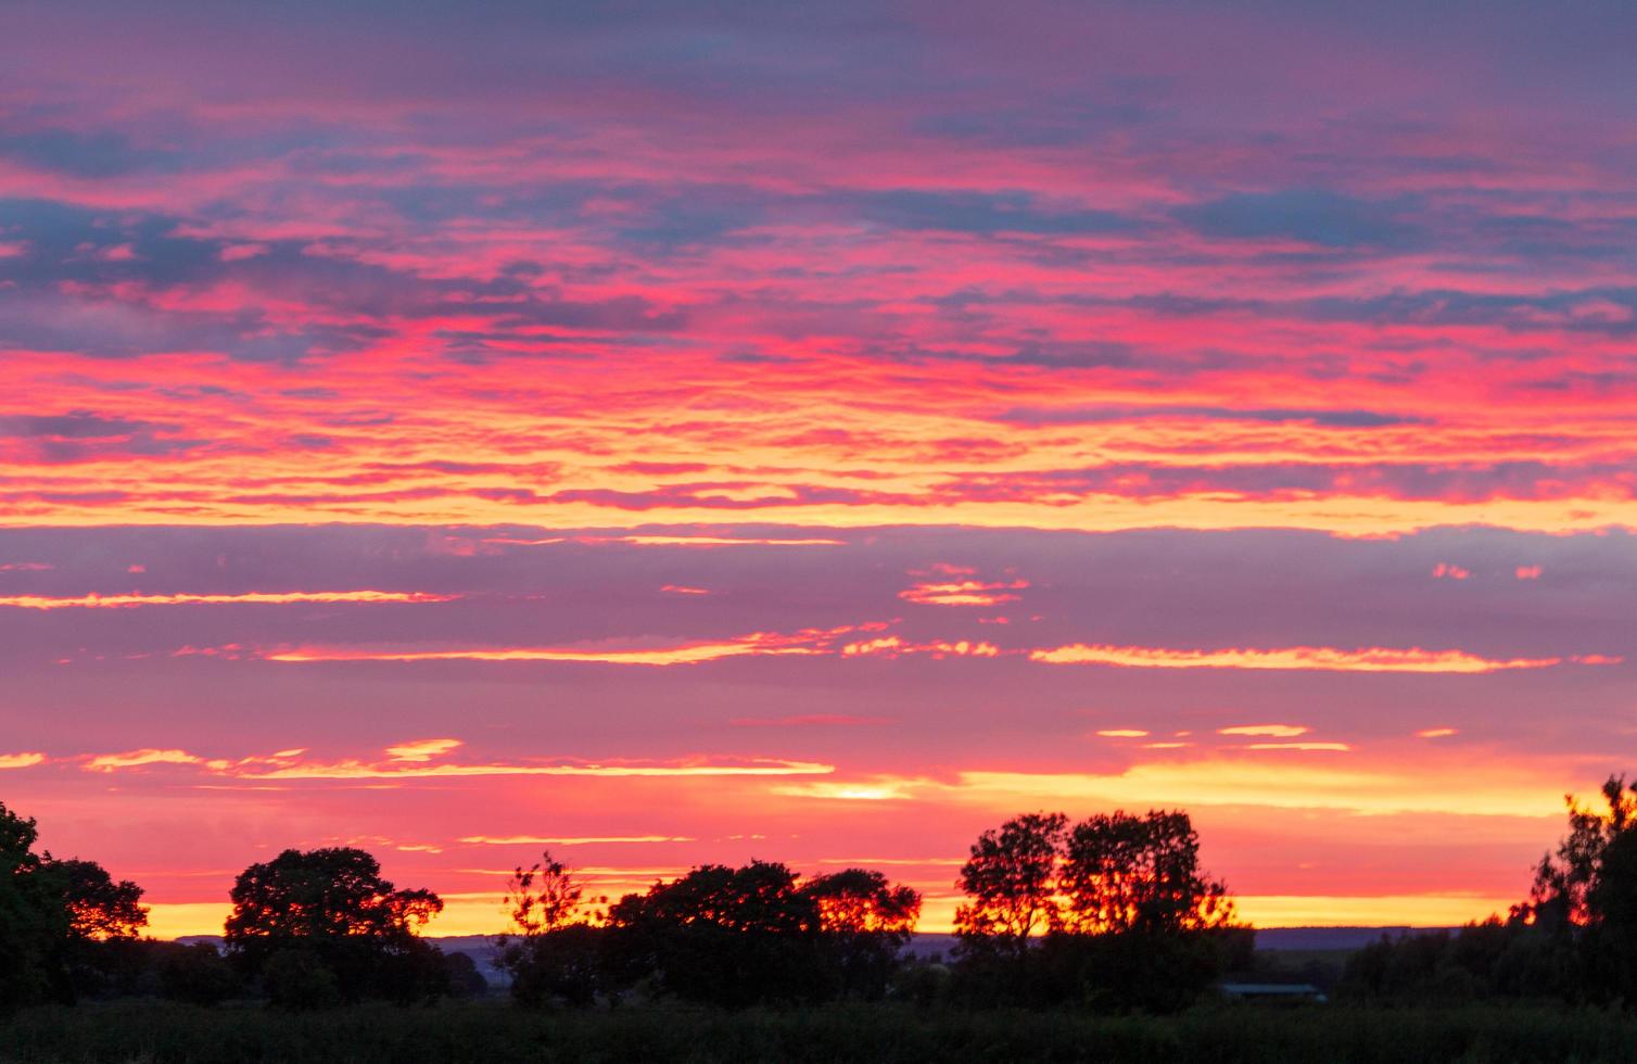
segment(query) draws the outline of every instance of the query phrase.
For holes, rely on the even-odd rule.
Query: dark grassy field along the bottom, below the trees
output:
[[[0,1062],[1097,1061],[1593,1064],[1637,1057],[1637,1015],[1534,1005],[1211,1007],[1179,1017],[855,1005],[742,1013],[524,1012],[503,1002],[285,1015],[116,1002],[0,1023]]]

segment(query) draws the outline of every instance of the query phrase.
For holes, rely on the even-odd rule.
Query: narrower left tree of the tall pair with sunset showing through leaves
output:
[[[1030,935],[1058,923],[1058,858],[1069,818],[1023,814],[972,843],[956,886],[971,900],[954,910],[954,933],[971,949],[979,941],[1015,954]]]

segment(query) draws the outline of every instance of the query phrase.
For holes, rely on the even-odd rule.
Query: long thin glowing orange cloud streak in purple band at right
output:
[[[1283,647],[1277,650],[1170,650],[1166,647],[1110,647],[1074,643],[1030,651],[1031,661],[1048,665],[1118,665],[1126,668],[1239,668],[1239,670],[1321,670],[1336,673],[1495,673],[1498,670],[1549,668],[1575,661],[1612,665],[1619,658],[1481,658],[1463,650],[1406,650],[1367,647]]]

